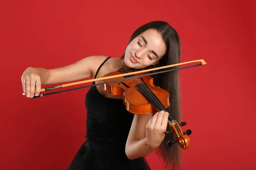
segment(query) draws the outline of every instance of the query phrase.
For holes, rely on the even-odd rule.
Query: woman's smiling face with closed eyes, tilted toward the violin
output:
[[[145,68],[156,64],[165,53],[166,44],[159,32],[148,29],[128,44],[124,60],[129,68]]]

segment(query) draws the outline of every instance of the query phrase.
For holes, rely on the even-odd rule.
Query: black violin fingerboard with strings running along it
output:
[[[154,105],[154,107],[158,111],[166,111],[169,113],[169,111],[165,108],[163,103],[157,98],[157,96],[151,91],[151,89],[144,82],[135,85],[135,87],[137,88],[138,91],[140,91],[141,94],[143,94],[143,96],[145,96],[145,98],[149,102],[151,102],[152,105]],[[171,115],[169,115],[169,117],[172,119],[170,120],[171,122],[176,122],[176,120],[173,119]]]

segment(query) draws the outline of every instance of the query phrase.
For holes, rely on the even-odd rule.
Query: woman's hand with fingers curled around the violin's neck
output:
[[[146,125],[146,143],[152,148],[157,148],[163,141],[168,125],[169,113],[166,111],[160,111],[155,113],[154,116],[149,119]]]

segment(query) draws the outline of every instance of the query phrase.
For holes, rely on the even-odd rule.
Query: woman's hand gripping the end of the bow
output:
[[[26,93],[26,97],[32,98],[38,96],[41,91],[41,77],[38,75],[38,72],[35,68],[27,68],[22,76],[21,82],[23,87],[23,92]]]

